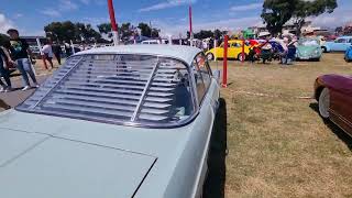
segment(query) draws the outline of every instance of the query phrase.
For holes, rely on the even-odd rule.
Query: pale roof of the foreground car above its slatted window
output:
[[[166,57],[174,57],[180,61],[191,64],[195,56],[200,53],[201,50],[187,45],[119,45],[119,46],[108,46],[100,48],[91,48],[88,51],[82,51],[76,55],[84,54],[145,54],[145,55],[160,55]]]

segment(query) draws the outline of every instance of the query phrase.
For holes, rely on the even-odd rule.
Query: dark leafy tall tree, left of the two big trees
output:
[[[265,0],[263,3],[262,19],[268,32],[276,36],[282,33],[284,24],[289,21],[299,0]]]

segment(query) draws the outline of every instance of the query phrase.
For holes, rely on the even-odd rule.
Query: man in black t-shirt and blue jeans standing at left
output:
[[[28,75],[30,75],[30,77],[32,78],[34,87],[38,87],[31,61],[29,58],[29,54],[32,54],[29,44],[25,40],[20,37],[19,31],[15,29],[8,30],[8,34],[10,35],[9,51],[11,55],[11,59],[9,62],[16,65],[16,68],[22,75],[24,82],[24,87],[22,90],[25,91],[31,88]]]

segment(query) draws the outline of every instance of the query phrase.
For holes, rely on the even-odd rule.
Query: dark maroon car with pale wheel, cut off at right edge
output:
[[[352,76],[324,75],[317,78],[315,97],[319,113],[352,135]]]

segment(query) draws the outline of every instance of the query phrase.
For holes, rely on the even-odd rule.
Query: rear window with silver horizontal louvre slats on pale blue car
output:
[[[16,109],[118,124],[178,125],[195,109],[189,77],[184,63],[167,57],[77,55]]]

